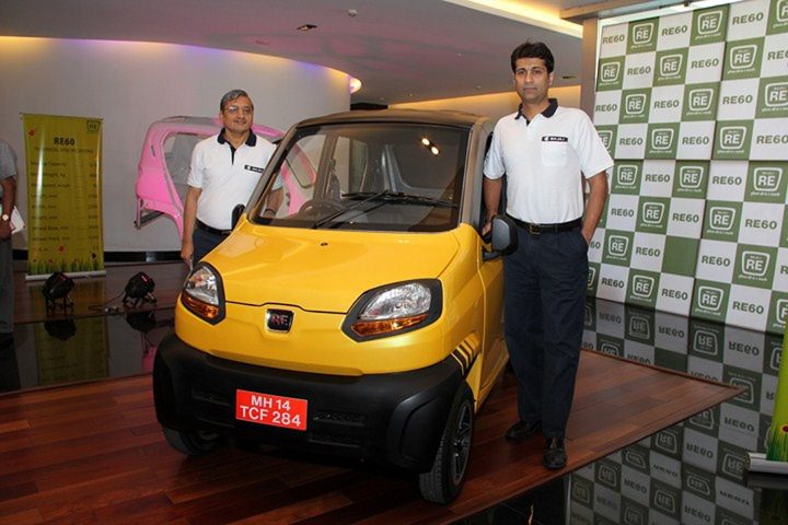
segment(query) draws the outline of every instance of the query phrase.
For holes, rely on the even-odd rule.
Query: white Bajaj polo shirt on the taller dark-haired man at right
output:
[[[491,179],[507,175],[508,214],[556,224],[582,217],[581,174],[591,177],[612,166],[588,115],[551,100],[531,122],[519,110],[498,120],[484,174]]]

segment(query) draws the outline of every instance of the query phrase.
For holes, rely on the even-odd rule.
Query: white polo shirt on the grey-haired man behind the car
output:
[[[202,189],[197,219],[217,230],[230,230],[233,208],[248,201],[274,150],[274,144],[254,133],[234,152],[221,132],[199,141],[186,179]]]

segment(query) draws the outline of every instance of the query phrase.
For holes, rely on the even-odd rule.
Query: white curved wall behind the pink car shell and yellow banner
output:
[[[103,133],[104,249],[179,249],[160,218],[134,228],[135,182],[148,126],[173,115],[216,116],[231,89],[248,92],[258,124],[287,129],[302,118],[346,110],[347,74],[262,55],[171,44],[0,37],[0,137],[19,158],[26,206],[21,113],[99,117]],[[14,237],[14,247],[25,240]]]

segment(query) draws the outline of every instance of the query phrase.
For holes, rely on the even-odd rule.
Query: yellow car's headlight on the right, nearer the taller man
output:
[[[343,331],[357,341],[394,336],[433,323],[442,307],[442,289],[436,279],[387,284],[356,301]]]

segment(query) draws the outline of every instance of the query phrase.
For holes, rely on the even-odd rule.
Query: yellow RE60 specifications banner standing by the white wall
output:
[[[102,120],[22,115],[28,279],[104,275]]]

